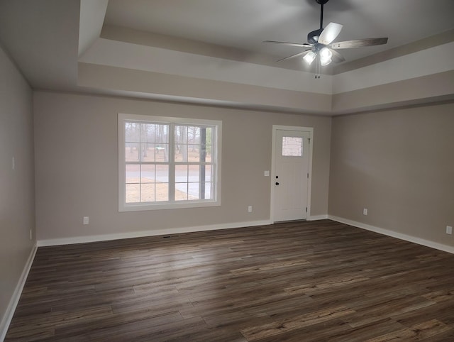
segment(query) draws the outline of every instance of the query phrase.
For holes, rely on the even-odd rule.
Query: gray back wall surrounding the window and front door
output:
[[[269,220],[272,125],[314,127],[311,215],[328,212],[331,118],[52,92],[34,111],[38,240]],[[118,213],[118,112],[221,120],[221,206]]]

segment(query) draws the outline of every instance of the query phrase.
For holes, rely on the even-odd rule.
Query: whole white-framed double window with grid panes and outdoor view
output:
[[[118,114],[118,210],[220,205],[221,121]]]

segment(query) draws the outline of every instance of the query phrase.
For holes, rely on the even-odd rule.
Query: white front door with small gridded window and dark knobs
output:
[[[307,217],[310,138],[309,131],[275,131],[273,221]]]

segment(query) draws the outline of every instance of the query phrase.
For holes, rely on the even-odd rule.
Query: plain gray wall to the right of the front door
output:
[[[454,246],[454,104],[333,118],[329,214]],[[362,215],[362,209],[368,215]]]

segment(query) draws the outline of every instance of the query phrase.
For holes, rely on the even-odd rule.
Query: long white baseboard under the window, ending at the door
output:
[[[74,236],[73,238],[50,238],[47,240],[38,240],[38,247],[43,246],[59,246],[72,245],[74,243],[87,243],[97,241],[118,240],[121,238],[143,238],[145,236],[159,236],[181,233],[192,233],[196,231],[217,231],[219,229],[242,228],[252,226],[267,226],[272,224],[270,220],[265,221],[250,221],[250,222],[235,222],[232,224],[214,224],[211,226],[193,226],[182,228],[157,229],[153,231],[133,231],[131,233],[115,233],[92,236]]]

